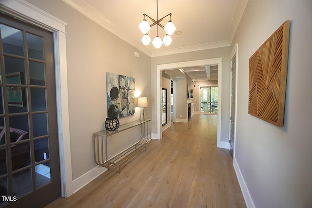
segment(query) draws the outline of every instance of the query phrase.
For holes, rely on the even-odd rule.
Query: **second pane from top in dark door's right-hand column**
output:
[[[45,64],[29,61],[30,84],[46,86]]]

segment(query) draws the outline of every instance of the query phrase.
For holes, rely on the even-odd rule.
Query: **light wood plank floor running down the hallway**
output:
[[[245,208],[228,150],[216,148],[217,115],[174,123],[118,169],[46,208]]]

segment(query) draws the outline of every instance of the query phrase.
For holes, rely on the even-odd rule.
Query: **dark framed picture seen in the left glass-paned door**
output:
[[[6,74],[6,83],[7,84],[14,84],[14,85],[20,85],[21,79],[20,79],[20,72],[14,72]],[[17,106],[17,107],[23,107],[24,106],[24,94],[23,89],[18,86],[10,86],[7,87],[8,92],[8,105],[9,106]]]

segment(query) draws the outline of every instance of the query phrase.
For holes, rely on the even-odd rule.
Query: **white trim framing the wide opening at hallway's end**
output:
[[[218,65],[218,122],[217,122],[217,147],[219,148],[228,148],[227,142],[221,142],[221,95],[222,95],[222,57],[221,58],[212,58],[212,59],[203,59],[195,61],[185,61],[169,64],[157,64],[157,102],[156,102],[156,112],[157,112],[157,139],[162,138],[161,132],[161,71],[162,70],[173,70],[185,67],[195,67],[195,66],[207,66],[207,65]],[[186,102],[186,100],[185,100]]]

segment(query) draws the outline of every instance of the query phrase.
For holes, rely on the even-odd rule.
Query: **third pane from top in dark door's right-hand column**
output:
[[[47,99],[45,88],[30,88],[32,111],[46,111]]]

